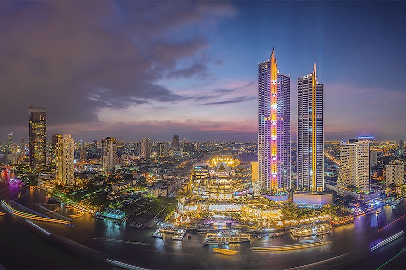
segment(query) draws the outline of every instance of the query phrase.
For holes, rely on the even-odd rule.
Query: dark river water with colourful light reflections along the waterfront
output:
[[[23,209],[18,204],[44,213],[38,204],[46,203],[48,194],[39,189],[29,189],[9,183],[9,179],[13,177],[12,173],[1,172],[0,199],[14,200],[17,204],[10,202],[10,205],[21,210]],[[6,212],[6,209],[2,207],[0,211]],[[27,212],[27,210],[23,211]],[[62,206],[57,213],[67,216],[75,211]],[[402,236],[376,251],[369,251],[370,247],[378,242],[406,228],[405,217],[378,232],[378,229],[405,213],[406,202],[402,202],[396,209],[383,207],[382,213],[379,215],[356,217],[353,224],[333,228],[331,234],[320,237],[322,240],[333,241],[331,244],[309,249],[255,252],[250,248],[294,244],[298,242],[298,239],[292,237],[291,234],[275,239],[253,238],[251,243],[230,244],[230,249],[238,251],[238,254],[234,256],[215,253],[212,247],[202,244],[205,234],[187,233],[183,241],[172,240],[166,236],[164,239],[157,239],[152,237],[156,227],[151,230],[139,230],[126,226],[126,223],[119,226],[106,219],[96,220],[89,214],[73,219],[71,226],[42,221],[32,222],[50,233],[61,235],[99,251],[105,258],[148,269],[285,269],[312,263],[326,268],[337,267],[337,262],[346,263],[340,264],[340,267],[370,269],[379,267],[406,247],[406,237]],[[23,221],[8,212],[5,216],[0,217],[2,243],[0,263],[5,268],[112,268],[103,262],[81,257],[61,245],[54,244],[41,236],[38,230],[35,231],[23,225]],[[127,222],[132,221],[130,219]],[[191,239],[188,239],[189,235]],[[132,243],[111,240],[125,240]],[[329,260],[330,258],[336,259]],[[405,261],[402,254],[398,259],[388,263],[386,267],[405,268]]]

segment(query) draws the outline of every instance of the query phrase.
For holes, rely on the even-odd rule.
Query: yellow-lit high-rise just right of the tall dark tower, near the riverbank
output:
[[[56,181],[62,186],[73,186],[74,141],[70,134],[53,134],[52,138],[55,138]]]

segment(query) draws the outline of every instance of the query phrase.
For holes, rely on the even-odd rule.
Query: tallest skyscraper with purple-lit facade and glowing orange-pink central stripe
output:
[[[259,191],[286,201],[290,191],[290,75],[277,69],[275,50],[258,64]]]

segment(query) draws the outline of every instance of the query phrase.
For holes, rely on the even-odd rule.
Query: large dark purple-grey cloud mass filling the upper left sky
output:
[[[5,2],[0,90],[12,102],[0,113],[12,117],[0,125],[28,125],[30,105],[47,106],[50,124],[91,123],[105,108],[184,100],[159,81],[206,74],[178,63],[210,48],[199,25],[234,13],[225,2]]]

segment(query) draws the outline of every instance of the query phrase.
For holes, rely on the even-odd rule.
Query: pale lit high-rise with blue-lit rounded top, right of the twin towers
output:
[[[370,192],[370,141],[349,139],[340,143],[340,171],[337,186],[351,186],[358,192]]]

